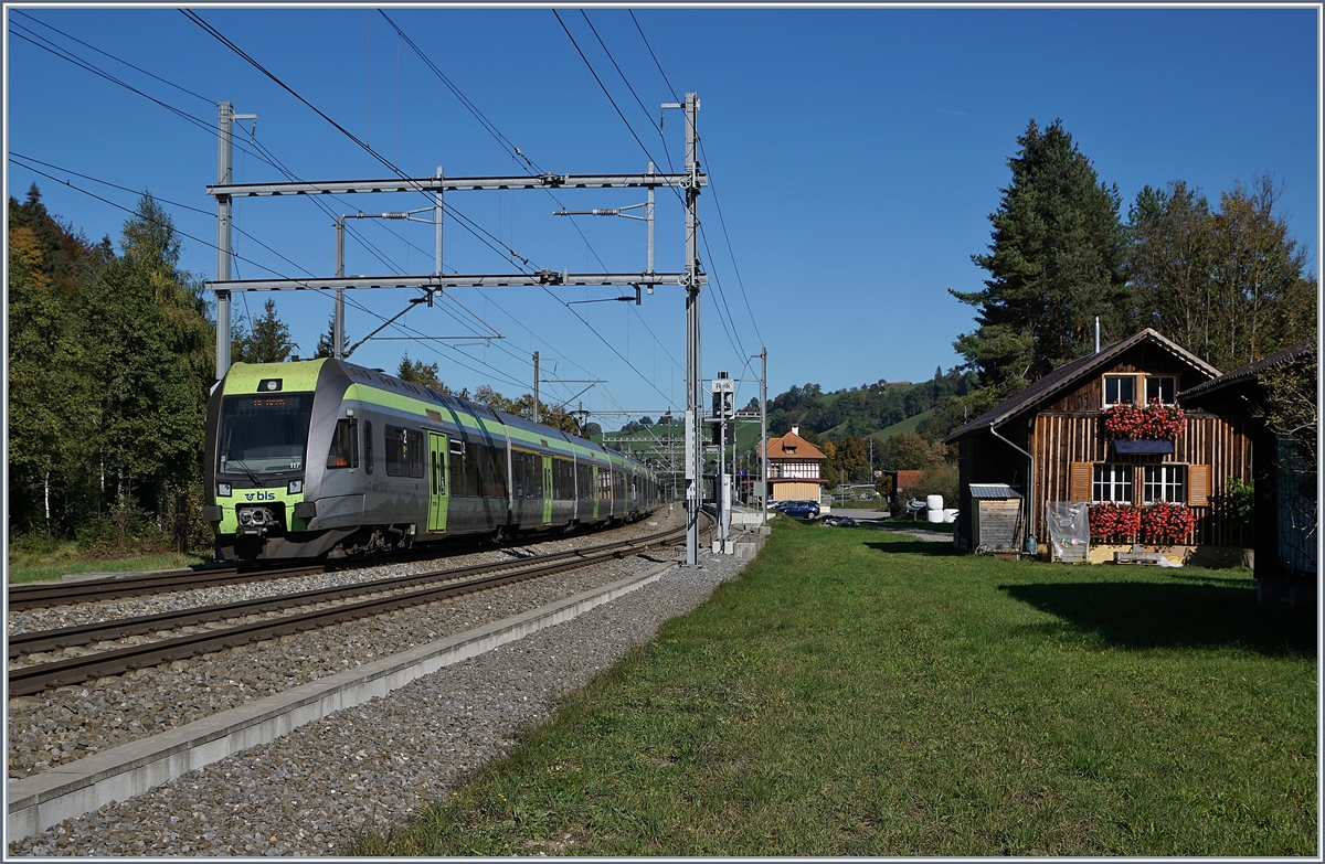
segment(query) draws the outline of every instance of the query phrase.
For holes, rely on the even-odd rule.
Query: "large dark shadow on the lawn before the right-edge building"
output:
[[[1314,616],[1279,615],[1277,610],[1256,603],[1255,587],[1085,582],[1003,584],[999,590],[1120,648],[1243,648],[1267,656],[1316,655]]]

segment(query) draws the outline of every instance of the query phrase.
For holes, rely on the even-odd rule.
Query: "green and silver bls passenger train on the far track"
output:
[[[334,359],[232,366],[207,408],[205,472],[224,561],[500,539],[659,505],[632,459]]]

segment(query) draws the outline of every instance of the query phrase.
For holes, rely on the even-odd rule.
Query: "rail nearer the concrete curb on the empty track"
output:
[[[432,586],[420,591],[398,594],[390,598],[351,603],[330,610],[303,612],[268,621],[256,621],[227,629],[180,636],[164,641],[132,645],[130,648],[89,655],[85,657],[74,657],[70,660],[44,663],[23,669],[15,669],[8,673],[9,696],[30,696],[33,693],[40,693],[58,686],[78,684],[111,675],[122,675],[144,667],[154,667],[160,663],[171,663],[212,651],[221,651],[265,639],[288,636],[307,629],[317,629],[318,627],[339,624],[359,618],[368,618],[383,612],[408,608],[411,606],[420,606],[423,603],[462,596],[474,591],[496,588],[504,584],[522,582],[537,576],[553,575],[566,570],[575,570],[613,558],[621,558],[631,550],[644,551],[652,546],[665,545],[678,538],[680,534],[681,529],[672,529],[639,541],[625,541],[615,545],[617,549],[604,550],[591,555],[572,557],[568,561],[553,563],[539,561],[531,567],[517,568],[513,572],[504,572],[500,575],[468,579],[458,584]]]

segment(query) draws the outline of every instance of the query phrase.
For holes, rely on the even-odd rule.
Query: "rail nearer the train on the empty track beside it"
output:
[[[610,551],[613,549],[627,547],[631,543],[632,541],[617,541],[615,543],[603,543],[600,546],[591,546],[590,549],[579,549],[564,553],[550,553],[546,555],[538,555],[538,559],[543,562],[553,562],[563,558],[583,557],[590,553],[600,553],[600,551]],[[232,603],[217,603],[215,606],[203,606],[191,610],[172,610],[168,612],[156,612],[154,615],[140,615],[135,618],[125,618],[109,621],[94,621],[89,624],[74,624],[72,627],[30,631],[26,633],[11,633],[9,659],[13,660],[15,657],[20,657],[23,655],[57,651],[61,648],[70,648],[78,645],[87,645],[95,641],[109,641],[115,639],[125,639],[127,636],[140,636],[143,633],[154,633],[154,632],[176,629],[180,627],[191,627],[193,624],[219,621],[228,618],[242,618],[245,615],[274,612],[280,610],[294,608],[298,606],[311,606],[314,603],[330,603],[334,600],[343,600],[354,596],[382,594],[383,591],[395,591],[415,584],[428,584],[440,580],[477,576],[485,572],[498,572],[502,570],[522,567],[527,565],[530,561],[531,558],[525,558],[515,561],[500,561],[490,565],[470,565],[466,567],[453,567],[449,570],[429,570],[427,572],[415,572],[404,576],[391,576],[388,579],[374,579],[371,582],[359,582],[348,586],[311,588],[309,591],[278,594],[265,598],[256,598],[252,600],[236,600]]]

